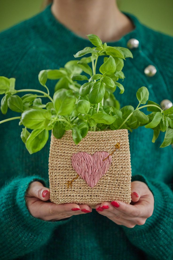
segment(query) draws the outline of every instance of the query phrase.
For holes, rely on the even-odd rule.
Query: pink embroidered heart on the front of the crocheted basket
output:
[[[100,178],[108,171],[112,158],[108,152],[96,152],[93,155],[86,152],[74,153],[72,155],[72,166],[79,176],[86,181],[90,187],[94,187]]]

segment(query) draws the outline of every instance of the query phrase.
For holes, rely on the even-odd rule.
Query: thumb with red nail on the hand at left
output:
[[[50,198],[50,190],[44,187],[39,181],[33,181],[29,186],[26,196],[48,200]]]

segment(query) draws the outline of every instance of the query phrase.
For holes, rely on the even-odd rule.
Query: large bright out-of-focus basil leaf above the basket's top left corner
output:
[[[72,90],[59,89],[53,95],[54,108],[59,115],[68,115],[73,111],[76,97]]]

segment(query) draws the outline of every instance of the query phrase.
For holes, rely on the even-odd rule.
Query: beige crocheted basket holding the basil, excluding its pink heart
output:
[[[118,142],[120,148],[114,151]],[[74,170],[72,156],[80,152],[93,155],[100,151],[107,152],[107,154],[112,153],[110,155],[112,161],[107,172],[94,187],[90,187]],[[78,163],[80,162],[78,161]],[[73,179],[72,185],[68,187],[68,181]],[[99,203],[113,200],[130,203],[131,164],[127,129],[88,132],[78,145],[74,144],[70,130],[66,131],[61,139],[55,138],[52,134],[49,154],[49,183],[50,200],[56,204],[87,204],[95,208]]]

